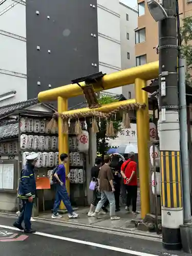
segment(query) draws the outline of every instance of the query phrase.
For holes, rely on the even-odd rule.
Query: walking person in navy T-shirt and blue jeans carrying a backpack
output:
[[[77,218],[78,214],[76,214],[71,206],[71,202],[69,199],[69,195],[66,189],[66,168],[65,163],[68,162],[68,155],[63,153],[60,155],[61,164],[59,164],[53,171],[52,181],[56,186],[56,196],[55,203],[53,207],[52,219],[58,219],[62,216],[58,214],[58,208],[60,206],[61,201],[65,204],[66,209],[68,211],[69,218]]]

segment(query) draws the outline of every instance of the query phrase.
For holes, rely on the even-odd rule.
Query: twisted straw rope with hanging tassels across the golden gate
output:
[[[61,117],[62,119],[62,133],[63,134],[68,134],[69,133],[69,127],[72,119],[76,119],[75,122],[75,134],[79,135],[82,133],[81,129],[81,123],[79,118],[84,117],[84,126],[86,127],[87,130],[87,122],[86,122],[86,117],[92,117],[92,133],[98,133],[99,132],[99,127],[101,126],[101,119],[106,120],[106,136],[107,137],[113,137],[115,136],[115,130],[114,130],[114,121],[116,121],[116,114],[118,112],[123,111],[123,117],[122,117],[122,125],[123,129],[130,129],[131,124],[130,124],[130,118],[129,118],[129,111],[131,110],[137,110],[137,109],[144,109],[145,104],[126,104],[119,106],[117,109],[114,109],[111,112],[108,113],[103,113],[99,111],[94,111],[93,109],[89,110],[86,113],[79,112],[77,114],[62,114],[62,113],[54,113],[53,118],[48,124],[48,129],[50,130],[56,130],[57,129],[57,120],[58,117]]]

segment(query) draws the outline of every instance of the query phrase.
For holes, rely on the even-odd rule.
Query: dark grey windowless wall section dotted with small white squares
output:
[[[99,71],[97,0],[26,0],[27,97]],[[97,66],[93,66],[96,63]],[[69,107],[82,102],[71,98]]]

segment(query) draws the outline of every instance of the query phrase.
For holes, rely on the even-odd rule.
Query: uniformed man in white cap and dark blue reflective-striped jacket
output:
[[[34,175],[34,167],[37,161],[38,154],[32,153],[26,157],[27,164],[20,175],[20,182],[18,187],[18,198],[22,199],[23,210],[20,213],[18,220],[13,223],[13,226],[24,230],[26,233],[35,233],[36,231],[31,229],[31,215],[33,209],[33,199],[36,196],[36,183]],[[25,229],[22,226],[22,222],[25,223]]]

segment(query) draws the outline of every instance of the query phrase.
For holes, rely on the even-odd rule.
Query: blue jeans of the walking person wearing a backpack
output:
[[[73,208],[71,206],[71,202],[69,199],[69,195],[67,193],[66,186],[65,185],[61,186],[60,184],[57,184],[56,185],[55,203],[54,203],[54,207],[53,207],[54,215],[57,214],[57,211],[58,211],[61,201],[63,201],[63,204],[65,204],[68,213],[72,214]]]

